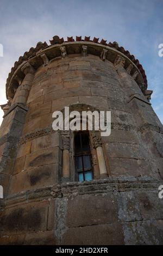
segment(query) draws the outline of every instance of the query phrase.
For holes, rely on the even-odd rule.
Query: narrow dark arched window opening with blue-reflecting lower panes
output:
[[[78,181],[82,182],[92,180],[93,171],[88,133],[76,133],[74,137],[74,157],[76,160]]]

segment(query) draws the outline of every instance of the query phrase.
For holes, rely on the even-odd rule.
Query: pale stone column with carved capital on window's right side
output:
[[[101,138],[99,138],[96,135],[96,133],[92,133],[92,139],[93,139],[93,148],[95,148],[97,152],[100,178],[107,178],[108,172],[106,168]]]

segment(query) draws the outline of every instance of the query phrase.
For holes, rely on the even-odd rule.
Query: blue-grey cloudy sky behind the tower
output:
[[[0,105],[7,103],[5,83],[15,61],[54,35],[95,36],[130,51],[146,71],[152,107],[163,123],[163,0],[0,0]],[[0,124],[2,117],[0,110]]]

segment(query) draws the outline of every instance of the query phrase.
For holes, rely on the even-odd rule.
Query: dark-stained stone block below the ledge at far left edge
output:
[[[0,220],[3,234],[44,231],[47,228],[47,215],[47,201],[17,205],[4,210]]]

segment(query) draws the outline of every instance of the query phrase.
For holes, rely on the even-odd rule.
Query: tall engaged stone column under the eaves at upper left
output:
[[[30,87],[32,86],[34,79],[35,69],[29,63],[25,64],[21,70],[26,76],[24,77],[23,82],[17,88],[15,99],[12,101],[12,105],[14,103],[27,103]]]

